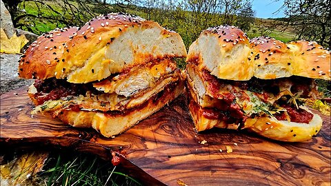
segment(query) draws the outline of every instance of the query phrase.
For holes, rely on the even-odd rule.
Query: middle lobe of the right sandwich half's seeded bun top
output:
[[[292,54],[288,46],[270,37],[250,40],[254,54],[254,76],[259,79],[277,79],[292,76]]]

